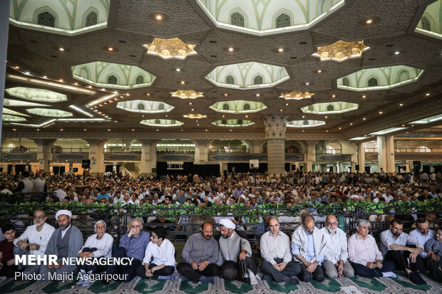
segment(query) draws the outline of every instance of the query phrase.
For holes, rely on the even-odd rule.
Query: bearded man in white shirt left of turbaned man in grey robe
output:
[[[46,224],[46,213],[41,209],[34,211],[34,225],[28,226],[19,238],[14,240],[14,254],[18,256],[35,255],[43,257],[46,245],[55,229]],[[19,269],[23,268],[19,265]],[[26,266],[24,273],[32,274],[40,271],[40,266]]]

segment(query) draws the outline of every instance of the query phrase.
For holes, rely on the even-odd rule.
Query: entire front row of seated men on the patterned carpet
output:
[[[4,224],[3,241],[0,241],[0,283],[16,277],[16,272],[39,274],[40,281],[50,280],[49,273],[68,275],[78,272],[76,285],[91,285],[93,273],[117,274],[117,280],[129,281],[140,278],[172,278],[176,271],[182,278],[193,283],[199,280],[213,283],[214,276],[225,280],[241,280],[255,285],[259,278],[272,279],[277,283],[299,284],[299,280],[322,282],[324,278],[393,277],[393,271],[404,271],[411,282],[425,284],[421,276],[428,271],[431,277],[442,283],[442,229],[430,229],[427,219],[417,219],[416,229],[409,234],[403,231],[404,223],[392,219],[388,229],[381,233],[379,246],[369,234],[370,222],[357,221],[356,233],[347,239],[346,232],[339,229],[339,221],[328,215],[324,227],[319,229],[313,216],[302,216],[302,224],[290,238],[281,231],[279,219],[270,217],[266,223],[268,231],[259,238],[258,266],[253,246],[244,231],[238,229],[230,217],[220,217],[215,223],[204,221],[200,231],[185,241],[180,259],[175,262],[175,246],[167,238],[164,226],[153,226],[150,231],[143,228],[143,219],[130,220],[128,233],[116,240],[106,233],[106,222],[95,222],[94,231],[83,243],[82,232],[73,224],[71,211],[56,212],[58,229],[46,223],[46,212],[34,211],[34,225],[16,238],[13,224]],[[220,231],[215,238],[215,226]],[[41,266],[15,264],[15,258],[23,255],[54,255],[57,263]],[[130,258],[124,265],[96,263],[87,265],[63,264],[63,258],[92,258],[97,261],[113,258]],[[98,265],[99,264],[99,265]],[[258,277],[257,270],[263,275]],[[248,280],[247,280],[248,278]],[[115,278],[101,281],[104,285]]]

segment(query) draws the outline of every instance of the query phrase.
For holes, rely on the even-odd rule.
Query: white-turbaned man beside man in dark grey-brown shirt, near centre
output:
[[[235,224],[230,219],[220,219],[220,251],[222,260],[221,278],[225,280],[241,280],[249,275],[250,284],[258,283],[256,263],[252,257],[252,246],[244,233],[235,231]],[[241,234],[241,236],[240,236]]]

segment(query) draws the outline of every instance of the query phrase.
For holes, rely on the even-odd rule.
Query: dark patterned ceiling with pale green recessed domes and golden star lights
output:
[[[441,0],[11,0],[3,137],[433,129],[440,19]]]

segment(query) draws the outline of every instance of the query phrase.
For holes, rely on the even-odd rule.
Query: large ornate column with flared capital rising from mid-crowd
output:
[[[269,177],[285,175],[285,131],[288,115],[265,115],[263,117],[267,138],[267,172]]]

